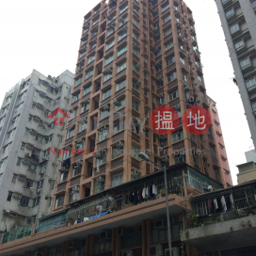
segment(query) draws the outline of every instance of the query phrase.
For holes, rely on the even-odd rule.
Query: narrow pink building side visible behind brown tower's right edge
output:
[[[232,175],[229,165],[228,155],[225,148],[224,138],[221,130],[221,124],[218,117],[218,111],[216,109],[216,102],[212,100],[209,96],[207,97],[210,104],[210,114],[212,118],[212,126],[207,131],[209,140],[212,141],[214,138],[214,143],[216,143],[216,157],[220,163],[219,171],[216,175],[221,175],[221,181],[225,181],[227,186],[232,185]]]

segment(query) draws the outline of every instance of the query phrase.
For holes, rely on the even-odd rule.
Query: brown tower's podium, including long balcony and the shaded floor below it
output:
[[[187,215],[192,211],[187,194],[200,195],[209,185],[221,188],[186,164],[168,169],[171,238],[177,251],[182,248],[180,232],[188,227]],[[133,250],[134,255],[146,256],[150,249],[165,251],[168,238],[163,189],[163,171],[157,171],[74,201],[66,210],[40,218],[24,236],[19,231],[4,233],[0,254],[30,256],[41,251],[54,256],[85,251],[86,255],[118,256]]]

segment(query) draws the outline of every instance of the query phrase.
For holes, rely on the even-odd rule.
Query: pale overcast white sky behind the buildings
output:
[[[75,71],[84,16],[100,1],[0,2],[0,104],[6,91],[33,69],[57,76]],[[246,162],[252,147],[244,107],[215,1],[186,0],[193,11],[207,94],[216,101],[226,151],[237,183],[236,166]]]

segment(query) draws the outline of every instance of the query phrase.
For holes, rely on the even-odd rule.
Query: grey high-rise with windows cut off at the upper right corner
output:
[[[256,149],[256,1],[216,0],[216,7]]]

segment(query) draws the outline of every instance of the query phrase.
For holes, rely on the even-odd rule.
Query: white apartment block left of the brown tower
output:
[[[73,73],[57,77],[33,70],[9,89],[0,110],[0,232],[51,212],[64,126],[47,117],[68,109]]]

